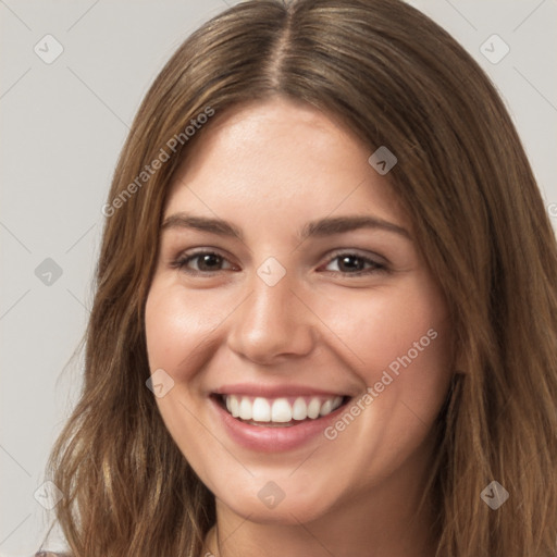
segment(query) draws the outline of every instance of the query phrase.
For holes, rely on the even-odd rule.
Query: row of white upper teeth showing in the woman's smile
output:
[[[327,416],[343,404],[342,396],[326,399],[320,397],[297,397],[290,405],[287,398],[268,399],[256,397],[252,399],[242,395],[224,395],[226,409],[234,418],[253,420],[256,422],[288,423],[293,420],[301,421],[307,418],[315,420]]]

